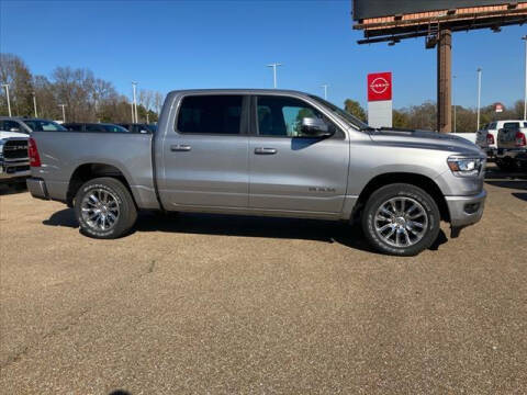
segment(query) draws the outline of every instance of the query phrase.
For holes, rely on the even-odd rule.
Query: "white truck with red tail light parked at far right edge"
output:
[[[496,165],[503,170],[527,170],[527,122],[506,123],[500,129]]]

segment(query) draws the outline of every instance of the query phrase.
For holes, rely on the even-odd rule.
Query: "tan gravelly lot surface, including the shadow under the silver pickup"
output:
[[[415,258],[326,222],[139,217],[0,190],[2,394],[525,394],[527,179]]]

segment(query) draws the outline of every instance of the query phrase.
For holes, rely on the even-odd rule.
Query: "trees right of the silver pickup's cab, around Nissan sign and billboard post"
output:
[[[354,114],[363,122],[367,122],[367,112],[358,101],[347,99],[344,102],[347,112]],[[464,108],[462,105],[452,106],[452,128],[453,117],[456,115],[456,132],[469,133],[476,131],[478,111],[476,109]],[[480,128],[493,121],[501,120],[523,120],[524,102],[518,100],[511,109],[504,109],[503,112],[495,112],[495,104],[486,105],[480,109]],[[424,131],[437,129],[437,106],[433,101],[427,101],[421,105],[411,105],[408,108],[393,110],[393,127],[413,128]]]

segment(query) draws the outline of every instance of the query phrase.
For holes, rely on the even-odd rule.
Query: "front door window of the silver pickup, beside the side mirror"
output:
[[[303,119],[324,120],[322,113],[299,99],[260,95],[257,100],[259,136],[300,136]]]

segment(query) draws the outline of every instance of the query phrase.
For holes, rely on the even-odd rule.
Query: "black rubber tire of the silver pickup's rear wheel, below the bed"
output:
[[[88,214],[82,214],[82,206],[87,207],[87,203],[83,203],[85,199],[92,202],[89,195],[100,196],[101,193],[102,196],[106,194],[106,201],[111,201],[112,207],[117,207],[116,215],[113,211],[113,217],[115,218],[113,224],[105,229],[98,226],[99,222],[90,222],[87,217]],[[90,204],[90,207],[92,206],[91,203],[88,204]],[[137,208],[130,191],[121,181],[110,177],[97,178],[82,184],[75,196],[74,206],[81,233],[92,238],[113,239],[124,236],[132,229],[137,219]],[[93,211],[91,211],[91,214],[93,214]]]

